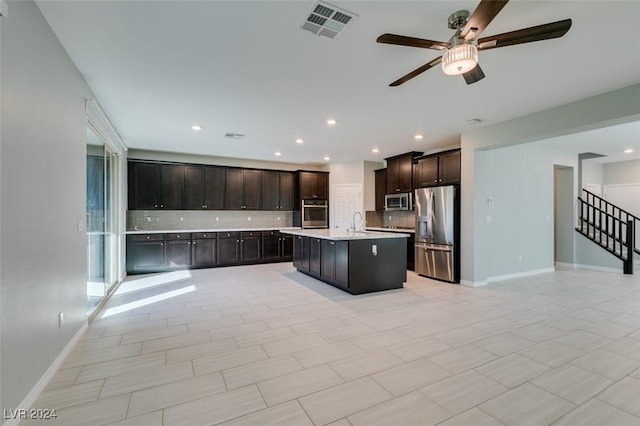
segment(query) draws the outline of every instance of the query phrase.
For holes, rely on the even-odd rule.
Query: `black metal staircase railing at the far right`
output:
[[[625,274],[633,274],[633,254],[640,254],[636,229],[640,229],[640,218],[582,190],[582,197],[578,197],[576,231],[622,260]]]

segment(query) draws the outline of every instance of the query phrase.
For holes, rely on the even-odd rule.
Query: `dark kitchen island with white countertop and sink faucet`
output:
[[[293,266],[351,294],[402,288],[409,234],[332,229],[281,230],[293,240]]]

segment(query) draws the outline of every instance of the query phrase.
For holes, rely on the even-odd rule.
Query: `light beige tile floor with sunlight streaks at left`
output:
[[[640,277],[409,273],[351,296],[290,263],[134,276],[35,407],[47,425],[640,425]]]

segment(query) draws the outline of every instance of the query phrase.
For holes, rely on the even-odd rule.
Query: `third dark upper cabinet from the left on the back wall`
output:
[[[225,209],[258,210],[262,171],[249,169],[227,169],[225,185]]]

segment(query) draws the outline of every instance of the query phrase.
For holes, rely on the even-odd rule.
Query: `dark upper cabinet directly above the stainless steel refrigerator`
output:
[[[416,188],[460,183],[460,150],[419,158],[414,173]]]

